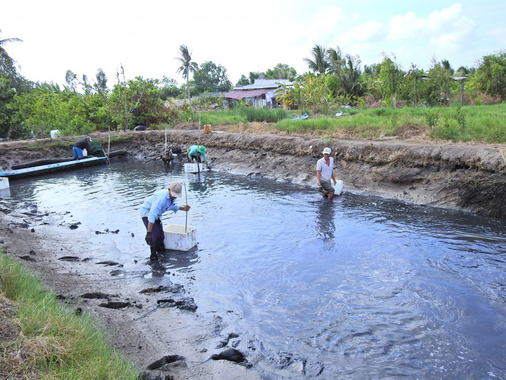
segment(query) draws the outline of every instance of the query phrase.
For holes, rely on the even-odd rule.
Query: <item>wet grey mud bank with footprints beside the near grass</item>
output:
[[[165,287],[153,287],[143,276],[134,282],[132,274],[121,275],[122,262],[105,262],[99,249],[72,242],[65,230],[75,225],[70,220],[70,213],[0,198],[0,248],[37,274],[69,310],[99,321],[142,379],[261,378],[250,369],[255,356],[230,352],[251,352],[256,343],[231,330],[226,318],[199,314],[179,285],[182,275],[173,273]],[[55,230],[56,223],[63,229]],[[157,264],[149,263],[153,271]]]

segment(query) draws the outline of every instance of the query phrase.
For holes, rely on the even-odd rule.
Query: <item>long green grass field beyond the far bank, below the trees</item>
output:
[[[335,113],[343,111],[343,116]],[[439,114],[434,130],[428,124],[426,113]],[[456,117],[457,107],[404,107],[375,109],[339,109],[322,115],[311,115],[306,120],[291,120],[301,115],[301,110],[236,107],[232,110],[202,113],[206,124],[224,125],[266,121],[272,129],[287,133],[343,134],[349,137],[395,136],[409,129],[434,139],[453,141],[506,142],[506,104],[465,106],[461,108],[464,123]],[[340,133],[341,132],[341,133]]]

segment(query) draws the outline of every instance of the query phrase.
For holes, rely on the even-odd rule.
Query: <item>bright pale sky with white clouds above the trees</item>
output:
[[[412,4],[411,4],[412,3]],[[393,54],[404,68],[428,69],[435,56],[472,66],[506,49],[506,3],[476,1],[28,1],[2,5],[1,39],[21,73],[33,81],[64,83],[65,71],[94,78],[101,67],[109,85],[120,64],[126,77],[163,75],[180,83],[178,46],[197,63],[241,74],[286,63],[302,73],[314,44],[339,46],[363,64]]]

